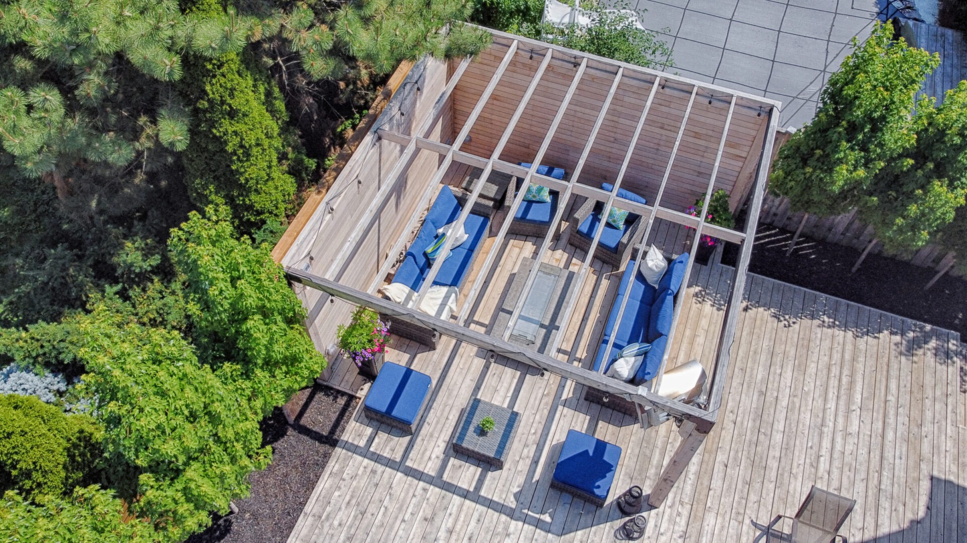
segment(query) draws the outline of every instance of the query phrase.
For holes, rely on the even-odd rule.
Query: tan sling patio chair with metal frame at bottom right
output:
[[[839,528],[846,522],[846,518],[853,512],[855,499],[843,498],[815,485],[809,489],[809,495],[800,505],[795,517],[777,515],[773,522],[766,527],[766,541],[792,541],[792,543],[829,543],[836,537],[847,543],[846,537],[839,535]],[[783,518],[792,519],[792,537],[774,537],[773,528]]]

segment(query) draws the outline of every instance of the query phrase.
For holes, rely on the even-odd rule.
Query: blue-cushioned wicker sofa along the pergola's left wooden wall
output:
[[[410,244],[406,256],[403,257],[403,261],[396,269],[393,283],[405,285],[417,292],[420,291],[425,277],[429,274],[430,267],[429,259],[424,253],[425,249],[436,238],[437,228],[456,221],[462,209],[451,188],[446,185],[441,187],[433,205],[426,213],[420,232],[413,243]],[[489,224],[488,216],[484,217],[475,213],[467,216],[463,224],[463,228],[468,235],[467,240],[459,247],[451,248],[450,255],[439,264],[440,271],[437,272],[433,285],[460,287],[463,284],[467,273],[473,267],[474,260],[481,253],[480,248],[483,245]],[[402,320],[393,320],[393,317],[390,316],[381,317],[384,320],[392,321],[391,330],[397,336],[416,341],[426,347],[436,348],[439,334],[435,331]]]

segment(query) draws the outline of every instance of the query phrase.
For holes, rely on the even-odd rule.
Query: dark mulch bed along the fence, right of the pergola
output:
[[[923,290],[936,270],[872,254],[855,274],[850,274],[861,251],[804,236],[793,254],[785,256],[791,240],[792,232],[759,225],[749,271],[967,337],[964,280],[947,274],[929,290]]]

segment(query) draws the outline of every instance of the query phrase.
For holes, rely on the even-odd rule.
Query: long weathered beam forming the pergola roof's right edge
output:
[[[759,157],[759,172],[752,188],[752,201],[748,204],[746,216],[746,241],[739,250],[739,261],[735,267],[735,280],[732,282],[732,292],[729,294],[728,305],[725,307],[725,317],[722,322],[722,333],[718,335],[718,356],[712,373],[712,391],[709,394],[709,412],[718,418],[718,407],[721,407],[722,392],[725,390],[725,380],[728,378],[728,365],[731,357],[732,343],[735,341],[735,328],[742,311],[742,297],[746,290],[748,275],[748,260],[752,256],[752,244],[755,240],[755,228],[759,223],[759,211],[762,198],[766,193],[766,180],[769,178],[772,163],[773,145],[776,142],[776,129],[779,115],[776,108],[769,110],[769,132],[762,142],[762,155]]]

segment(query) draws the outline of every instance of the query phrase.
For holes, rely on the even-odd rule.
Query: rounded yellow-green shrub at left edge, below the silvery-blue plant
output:
[[[34,396],[0,395],[0,491],[43,501],[96,475],[101,430]]]

